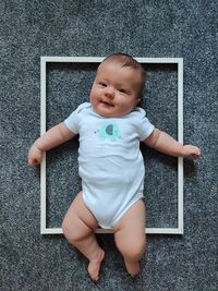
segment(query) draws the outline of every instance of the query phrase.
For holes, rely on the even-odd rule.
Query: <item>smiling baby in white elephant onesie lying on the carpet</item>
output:
[[[125,53],[113,53],[97,69],[89,102],[82,104],[31,147],[28,165],[40,163],[43,153],[80,134],[78,173],[82,191],[62,223],[63,233],[87,259],[94,281],[99,278],[104,250],[95,230],[112,229],[128,272],[140,271],[145,252],[144,160],[140,142],[166,155],[198,158],[201,151],[182,145],[156,129],[137,107],[145,72]]]

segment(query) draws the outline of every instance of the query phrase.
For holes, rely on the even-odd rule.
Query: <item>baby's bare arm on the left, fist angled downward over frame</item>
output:
[[[71,132],[63,122],[48,130],[32,145],[28,151],[28,165],[40,163],[43,153],[73,138],[76,134]]]

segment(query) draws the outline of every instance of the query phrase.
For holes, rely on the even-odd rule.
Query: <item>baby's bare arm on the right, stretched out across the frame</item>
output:
[[[143,142],[147,146],[173,157],[198,158],[201,156],[201,150],[198,147],[193,145],[182,145],[166,132],[157,129],[155,129],[153,133]]]

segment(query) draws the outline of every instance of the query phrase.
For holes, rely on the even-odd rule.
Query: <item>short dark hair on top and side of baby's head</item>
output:
[[[141,73],[140,95],[143,94],[143,89],[145,86],[145,71],[143,66],[135,59],[133,59],[132,56],[123,52],[116,52],[104,59],[102,63],[105,61],[113,61],[120,64],[121,66],[129,66],[133,70],[138,70]]]

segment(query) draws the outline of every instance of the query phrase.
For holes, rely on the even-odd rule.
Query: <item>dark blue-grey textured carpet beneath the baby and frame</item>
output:
[[[209,1],[0,1],[0,289],[218,290],[217,19]],[[202,149],[184,161],[184,234],[147,235],[141,275],[132,280],[112,235],[100,281],[62,235],[40,234],[39,169],[26,165],[40,129],[40,56],[183,58],[184,143]],[[88,94],[97,64],[47,66],[47,126],[66,118]],[[145,65],[143,107],[177,138],[177,65]],[[148,227],[177,227],[177,159],[142,146]],[[60,227],[80,191],[77,141],[47,155],[47,225]]]

